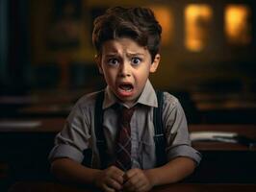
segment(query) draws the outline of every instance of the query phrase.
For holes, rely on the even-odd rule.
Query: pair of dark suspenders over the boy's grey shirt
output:
[[[155,128],[155,149],[157,166],[164,165],[166,163],[166,137],[164,134],[164,125],[162,120],[162,108],[164,102],[164,93],[161,91],[156,91],[158,108],[154,108],[153,123]],[[96,145],[99,152],[99,157],[101,161],[101,169],[107,168],[107,154],[106,154],[106,138],[103,132],[103,115],[104,111],[102,109],[102,104],[104,100],[104,91],[100,91],[96,96],[95,103],[95,114],[94,114],[94,127],[96,135]]]

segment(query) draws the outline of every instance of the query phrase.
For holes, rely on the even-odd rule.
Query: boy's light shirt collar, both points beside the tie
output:
[[[112,92],[110,87],[107,86],[105,88],[105,95],[102,108],[110,108],[115,103],[118,103],[118,99],[115,97],[115,94]],[[158,107],[156,92],[149,80],[147,80],[137,103],[154,108]]]

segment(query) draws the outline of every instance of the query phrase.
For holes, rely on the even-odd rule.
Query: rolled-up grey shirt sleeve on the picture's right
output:
[[[184,110],[178,99],[166,92],[164,94],[163,122],[166,129],[167,159],[187,156],[199,164],[201,154],[192,148]]]

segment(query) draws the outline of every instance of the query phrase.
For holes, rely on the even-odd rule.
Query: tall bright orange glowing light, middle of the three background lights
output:
[[[209,25],[213,17],[210,6],[191,4],[185,9],[185,46],[199,52],[206,46],[209,38]]]

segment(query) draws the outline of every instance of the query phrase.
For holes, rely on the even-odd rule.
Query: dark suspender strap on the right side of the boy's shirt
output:
[[[156,91],[158,108],[154,108],[153,123],[155,131],[155,149],[157,166],[162,166],[166,163],[166,137],[164,134],[164,125],[162,119],[164,93],[162,91]]]

